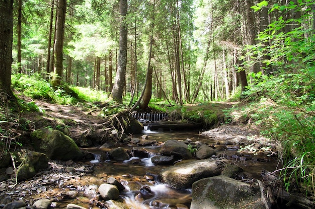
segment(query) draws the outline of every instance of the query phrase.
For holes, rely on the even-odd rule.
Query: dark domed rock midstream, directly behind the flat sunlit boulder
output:
[[[184,142],[169,140],[162,146],[160,153],[166,156],[174,156],[178,159],[191,159],[192,155]]]

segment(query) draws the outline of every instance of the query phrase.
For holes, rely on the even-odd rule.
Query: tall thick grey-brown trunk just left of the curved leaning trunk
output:
[[[127,65],[127,23],[125,18],[127,15],[127,0],[119,1],[119,10],[120,10],[120,31],[119,31],[119,57],[118,57],[118,68],[115,78],[115,83],[113,86],[110,99],[122,103],[122,94],[125,86],[125,77],[126,77],[126,65]]]

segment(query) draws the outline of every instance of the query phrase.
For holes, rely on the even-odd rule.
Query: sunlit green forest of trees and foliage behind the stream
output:
[[[311,0],[17,0],[12,72],[0,72],[13,82],[0,84],[32,77],[143,110],[152,98],[243,99],[243,115],[282,142],[290,178],[315,192],[314,34]]]

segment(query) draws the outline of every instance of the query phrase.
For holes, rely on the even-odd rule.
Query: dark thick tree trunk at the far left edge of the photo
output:
[[[0,1],[0,92],[10,99],[13,39],[13,0]]]

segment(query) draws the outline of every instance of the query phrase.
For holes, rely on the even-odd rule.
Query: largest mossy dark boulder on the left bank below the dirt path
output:
[[[51,160],[80,160],[83,153],[69,136],[59,130],[42,128],[31,133],[33,147]]]

